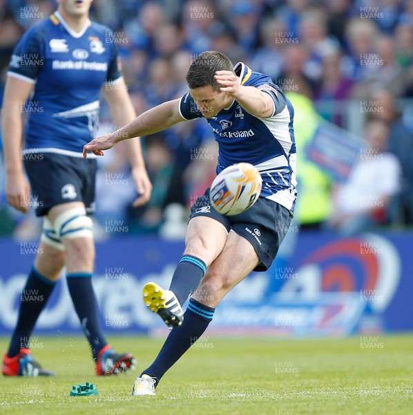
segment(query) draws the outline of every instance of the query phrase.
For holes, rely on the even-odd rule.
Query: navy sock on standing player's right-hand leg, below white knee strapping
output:
[[[66,275],[70,297],[86,338],[92,349],[93,359],[106,346],[106,339],[99,322],[99,308],[92,286],[92,274],[73,273]]]

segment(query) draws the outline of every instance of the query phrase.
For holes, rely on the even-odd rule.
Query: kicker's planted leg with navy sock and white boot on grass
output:
[[[165,372],[200,338],[212,320],[215,306],[259,263],[247,239],[229,232],[224,249],[213,261],[184,314],[182,326],[171,331],[153,364],[133,384],[134,396],[154,395]]]

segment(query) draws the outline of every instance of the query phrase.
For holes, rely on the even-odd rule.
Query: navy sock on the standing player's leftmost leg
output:
[[[7,352],[9,358],[16,356],[20,349],[29,348],[30,335],[37,318],[46,305],[55,285],[55,281],[39,274],[35,267],[30,271],[26,286],[20,293],[19,319]]]

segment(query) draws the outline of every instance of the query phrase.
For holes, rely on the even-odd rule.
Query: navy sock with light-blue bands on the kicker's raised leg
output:
[[[206,271],[206,265],[202,259],[193,255],[184,255],[173,273],[171,286],[181,306],[186,302],[189,295],[194,293],[200,285],[200,281]]]

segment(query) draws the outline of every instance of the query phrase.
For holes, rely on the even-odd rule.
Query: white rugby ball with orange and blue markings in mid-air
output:
[[[209,199],[215,210],[233,216],[251,208],[260,196],[261,186],[258,169],[249,163],[238,163],[215,177]]]

